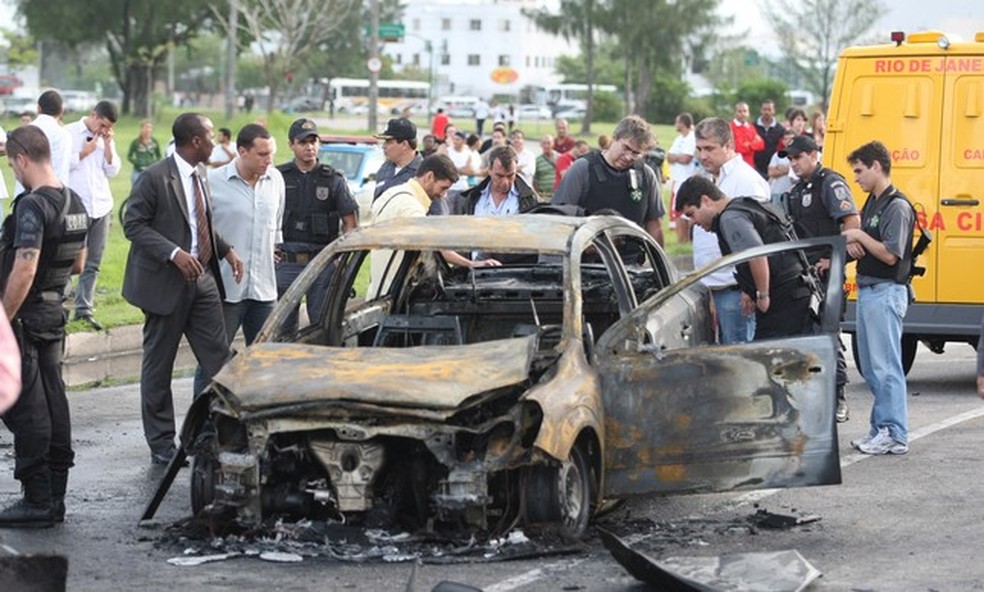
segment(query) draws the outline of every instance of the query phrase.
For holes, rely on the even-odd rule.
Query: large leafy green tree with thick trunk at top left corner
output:
[[[27,30],[38,40],[67,48],[102,43],[123,92],[121,109],[151,112],[154,72],[168,49],[181,46],[208,24],[210,9],[199,0],[16,0]],[[71,15],[71,16],[66,16]]]

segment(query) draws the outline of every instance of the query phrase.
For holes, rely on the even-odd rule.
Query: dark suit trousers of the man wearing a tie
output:
[[[152,452],[174,444],[174,396],[171,375],[181,337],[188,339],[205,380],[230,357],[219,287],[210,272],[184,282],[174,293],[177,306],[168,315],[144,311],[140,401],[144,437]]]

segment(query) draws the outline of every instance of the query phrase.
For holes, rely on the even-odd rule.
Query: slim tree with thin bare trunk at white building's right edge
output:
[[[581,134],[591,133],[591,117],[594,109],[594,58],[595,58],[595,19],[599,0],[560,0],[558,12],[553,13],[545,8],[523,10],[523,14],[533,19],[541,29],[560,35],[565,40],[572,39],[581,43],[584,54],[585,82],[588,84],[587,108],[581,120]]]

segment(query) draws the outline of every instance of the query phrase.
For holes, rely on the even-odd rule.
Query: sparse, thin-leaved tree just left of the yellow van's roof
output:
[[[763,0],[763,14],[788,61],[826,110],[841,50],[856,42],[885,12],[881,0]]]

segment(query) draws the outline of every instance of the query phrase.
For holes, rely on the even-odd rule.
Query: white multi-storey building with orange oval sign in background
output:
[[[394,68],[435,72],[435,96],[518,96],[526,85],[560,82],[561,55],[577,46],[539,29],[523,9],[553,7],[543,0],[407,0],[406,37],[386,43]],[[555,8],[555,7],[554,7]],[[428,45],[428,41],[430,44]],[[431,51],[428,51],[428,50]]]

